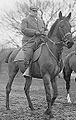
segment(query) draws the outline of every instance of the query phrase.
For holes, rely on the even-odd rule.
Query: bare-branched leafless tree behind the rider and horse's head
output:
[[[0,26],[3,32],[8,34],[6,43],[9,42],[16,47],[21,45],[22,33],[20,29],[21,20],[29,14],[29,6],[35,4],[39,7],[40,16],[45,24],[45,28],[49,29],[53,22],[58,17],[58,12],[61,10],[64,15],[67,15],[69,11],[72,12],[71,25],[73,31],[76,32],[76,0],[72,3],[63,0],[62,2],[54,2],[53,0],[26,0],[24,2],[16,2],[16,9],[9,12],[4,11],[0,18]]]

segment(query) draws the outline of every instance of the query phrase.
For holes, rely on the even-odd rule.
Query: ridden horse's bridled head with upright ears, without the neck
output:
[[[68,48],[71,48],[74,44],[71,33],[71,25],[69,22],[70,18],[71,12],[68,14],[67,17],[63,17],[61,11],[59,12],[58,37]]]

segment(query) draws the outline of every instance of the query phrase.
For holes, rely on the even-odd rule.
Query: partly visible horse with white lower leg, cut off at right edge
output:
[[[69,95],[70,78],[73,71],[76,73],[76,52],[75,51],[72,51],[66,56],[64,61],[64,67],[63,67],[63,77],[66,81],[67,100],[69,103],[71,103],[71,99]]]

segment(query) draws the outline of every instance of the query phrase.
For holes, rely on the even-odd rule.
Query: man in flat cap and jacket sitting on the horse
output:
[[[37,46],[43,42],[41,36],[39,35],[41,33],[45,34],[45,26],[43,20],[37,16],[37,12],[38,8],[31,6],[30,14],[24,18],[21,23],[21,32],[23,33],[22,50],[24,52],[24,60],[27,65],[27,69],[23,74],[24,77],[30,77],[29,69],[33,53],[37,49]]]

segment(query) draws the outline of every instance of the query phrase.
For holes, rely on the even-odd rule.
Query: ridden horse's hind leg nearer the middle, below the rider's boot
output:
[[[33,104],[31,102],[31,99],[30,99],[30,96],[29,96],[29,90],[30,90],[31,83],[32,83],[32,78],[31,77],[30,78],[26,77],[26,83],[25,83],[24,91],[25,91],[30,109],[34,110]]]

